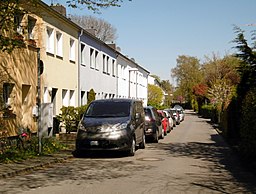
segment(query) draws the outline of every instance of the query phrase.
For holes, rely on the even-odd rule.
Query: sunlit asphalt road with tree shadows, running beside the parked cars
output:
[[[185,121],[134,157],[74,158],[0,181],[2,193],[169,194],[256,193],[256,178],[208,122],[186,111]]]

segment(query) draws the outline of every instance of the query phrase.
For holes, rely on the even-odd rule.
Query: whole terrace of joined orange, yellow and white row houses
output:
[[[96,99],[136,98],[147,104],[149,72],[65,14],[63,6],[40,2],[17,20],[27,46],[11,55],[0,53],[1,71],[7,72],[0,88],[6,104],[1,117],[9,136],[19,127],[32,132],[39,127],[51,135],[61,108],[87,104],[91,89]]]

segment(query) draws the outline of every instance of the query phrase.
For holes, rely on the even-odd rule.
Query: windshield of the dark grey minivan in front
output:
[[[130,113],[129,102],[96,102],[92,103],[86,113],[86,117],[127,117]]]

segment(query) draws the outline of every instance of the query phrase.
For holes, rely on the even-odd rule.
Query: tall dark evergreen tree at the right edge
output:
[[[240,135],[240,151],[244,159],[255,160],[256,157],[256,35],[252,35],[252,45],[249,45],[245,39],[244,31],[238,27],[234,28],[237,37],[234,42],[238,52],[236,57],[242,63],[238,71],[241,81],[237,87],[236,104],[238,107],[237,118],[239,122],[236,124],[239,128]]]

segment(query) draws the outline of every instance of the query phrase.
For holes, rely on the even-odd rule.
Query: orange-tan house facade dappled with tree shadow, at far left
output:
[[[11,54],[0,53],[0,137],[14,136],[21,128],[37,131],[37,119],[33,110],[37,98],[37,51],[34,42],[15,49]]]

